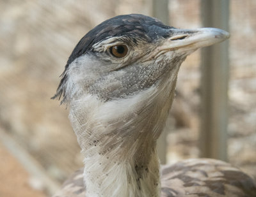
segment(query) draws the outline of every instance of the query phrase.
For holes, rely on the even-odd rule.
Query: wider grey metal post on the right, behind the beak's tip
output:
[[[204,27],[228,31],[229,1],[202,0]],[[228,41],[202,49],[201,157],[227,161]]]

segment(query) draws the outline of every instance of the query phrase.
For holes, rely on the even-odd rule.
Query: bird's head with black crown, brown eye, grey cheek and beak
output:
[[[110,18],[77,43],[54,98],[68,103],[92,94],[108,102],[175,86],[187,55],[228,37],[221,29],[176,29],[145,15]]]

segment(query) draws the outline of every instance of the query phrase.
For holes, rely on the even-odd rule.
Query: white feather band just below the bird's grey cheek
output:
[[[126,124],[129,125],[130,122],[127,117],[137,117],[141,108],[150,105],[148,98],[150,95],[154,95],[156,91],[156,87],[150,87],[130,98],[114,99],[108,102],[84,92],[79,99],[72,99],[69,117],[78,141],[85,142],[84,133],[91,129],[97,129],[97,136],[106,135],[118,129],[115,124],[110,122],[120,122],[123,127]]]

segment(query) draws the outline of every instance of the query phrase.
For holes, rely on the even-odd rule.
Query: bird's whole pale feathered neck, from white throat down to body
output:
[[[170,85],[152,86],[131,98],[104,102],[83,94],[70,102],[88,196],[159,196],[156,140],[176,80],[177,75],[167,81]]]

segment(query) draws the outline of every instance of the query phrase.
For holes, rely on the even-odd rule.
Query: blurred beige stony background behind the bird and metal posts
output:
[[[200,0],[170,0],[170,25],[202,27]],[[76,43],[100,22],[152,15],[151,0],[0,1],[0,196],[48,196],[83,166],[65,105],[50,98]],[[256,177],[256,1],[230,0],[228,161]],[[200,51],[180,68],[166,163],[198,157]]]

